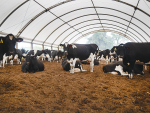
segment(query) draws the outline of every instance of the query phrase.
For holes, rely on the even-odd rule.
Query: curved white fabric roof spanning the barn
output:
[[[149,0],[0,0],[0,34],[43,45],[101,31],[150,42]]]

